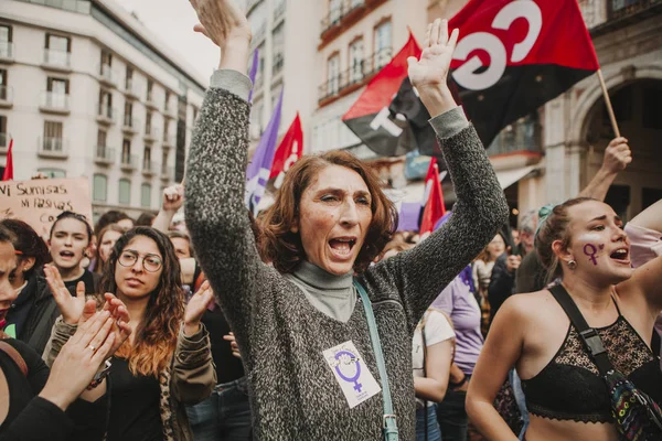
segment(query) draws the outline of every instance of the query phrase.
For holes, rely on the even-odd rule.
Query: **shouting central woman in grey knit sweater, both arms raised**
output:
[[[395,418],[402,439],[414,439],[414,330],[508,216],[484,149],[446,86],[458,31],[449,36],[448,23],[435,21],[420,60],[408,60],[453,178],[455,215],[416,248],[370,266],[396,228],[396,209],[371,169],[342,151],[288,171],[261,219],[258,252],[244,205],[249,25],[232,0],[192,4],[196,30],[222,58],[192,138],[186,226],[247,368],[255,437],[375,440]],[[371,303],[381,344],[371,340]]]

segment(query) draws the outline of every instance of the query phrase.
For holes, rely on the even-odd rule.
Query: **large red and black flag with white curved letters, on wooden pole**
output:
[[[471,0],[448,26],[449,83],[485,147],[599,68],[577,0]]]

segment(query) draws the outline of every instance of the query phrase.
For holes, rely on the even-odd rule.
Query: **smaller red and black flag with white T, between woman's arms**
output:
[[[417,136],[409,127],[408,116],[418,115],[423,106],[407,77],[409,56],[420,56],[420,47],[410,33],[405,46],[370,80],[342,117],[365,146],[383,157],[398,157],[417,148]],[[428,133],[434,142],[431,129]]]

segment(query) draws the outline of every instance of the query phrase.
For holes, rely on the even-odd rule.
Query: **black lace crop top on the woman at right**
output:
[[[618,308],[618,306],[617,306]],[[624,316],[597,329],[611,364],[655,402],[662,404],[662,372]],[[613,422],[605,380],[569,325],[560,348],[535,377],[522,380],[528,411],[535,416],[581,422]]]

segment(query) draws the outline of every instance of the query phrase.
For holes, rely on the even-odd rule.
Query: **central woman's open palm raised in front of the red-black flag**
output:
[[[410,56],[409,79],[412,85],[423,93],[426,87],[446,87],[446,77],[450,68],[452,52],[458,42],[459,31],[455,29],[448,35],[448,21],[437,19],[428,24],[420,60]]]

